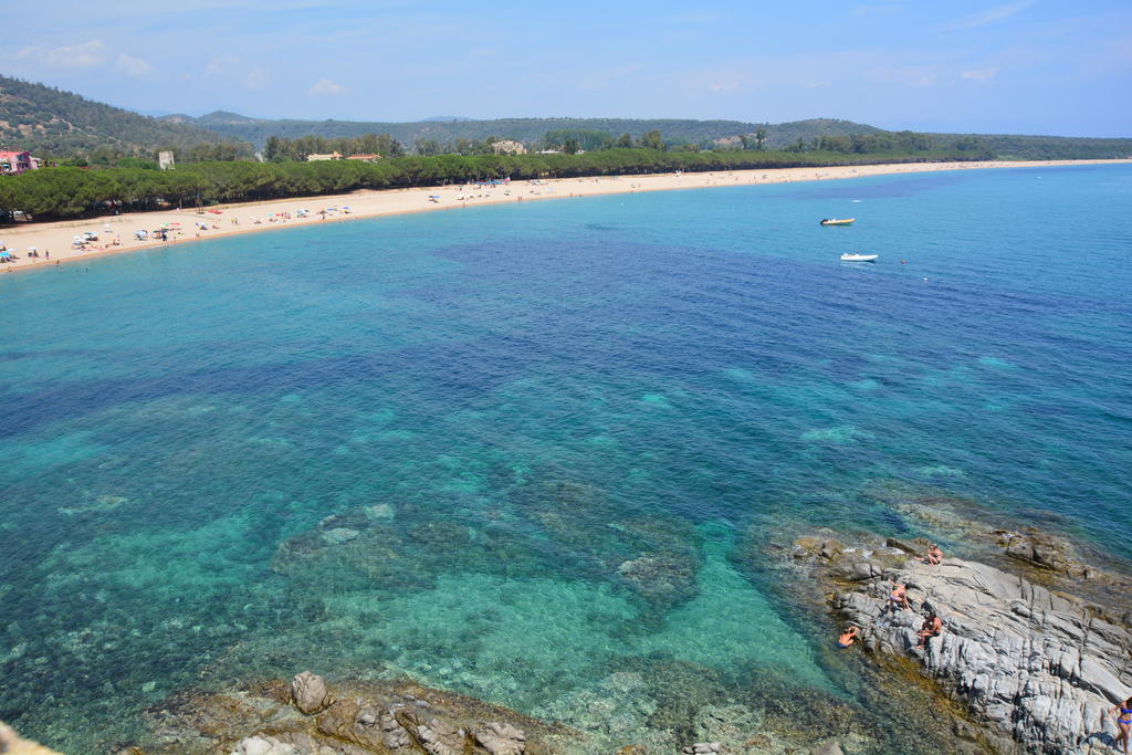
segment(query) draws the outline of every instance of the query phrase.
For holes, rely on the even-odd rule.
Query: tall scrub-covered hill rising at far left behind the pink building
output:
[[[220,140],[186,120],[148,115],[93,102],[70,92],[0,76],[0,148],[55,157],[100,148],[154,157],[160,148]]]

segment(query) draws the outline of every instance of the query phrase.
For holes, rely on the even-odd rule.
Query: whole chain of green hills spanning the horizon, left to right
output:
[[[357,138],[388,134],[412,151],[418,139],[451,145],[460,139],[483,141],[488,137],[525,144],[542,140],[548,131],[559,137],[573,132],[583,140],[601,143],[608,135],[628,134],[634,139],[660,131],[669,145],[737,145],[743,137],[765,132],[764,146],[779,149],[812,144],[821,137],[885,134],[865,123],[835,119],[811,119],[788,123],[744,121],[624,118],[508,118],[472,120],[437,115],[405,123],[342,120],[271,120],[228,111],[192,117],[182,113],[149,118],[136,112],[86,100],[42,84],[0,76],[0,149],[28,149],[38,156],[89,157],[117,153],[153,158],[157,149],[178,151],[178,160],[233,160],[250,156],[250,143],[263,148],[268,137],[298,139],[305,136]],[[940,148],[976,139],[984,148],[1006,160],[1048,160],[1132,156],[1132,139],[1011,135],[929,135]],[[748,139],[749,141],[749,139]],[[229,143],[229,144],[223,144]]]

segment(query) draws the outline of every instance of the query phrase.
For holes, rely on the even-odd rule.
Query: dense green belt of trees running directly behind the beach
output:
[[[654,138],[659,140],[660,135]],[[0,177],[0,212],[10,214],[20,209],[45,221],[104,213],[112,205],[123,211],[195,207],[508,177],[520,180],[975,158],[978,158],[977,151],[960,149],[899,154],[846,154],[826,149],[803,154],[758,149],[693,152],[615,147],[574,155],[406,155],[375,163],[199,162],[179,164],[177,170],[171,171],[154,170],[139,161],[97,170],[60,166]]]

